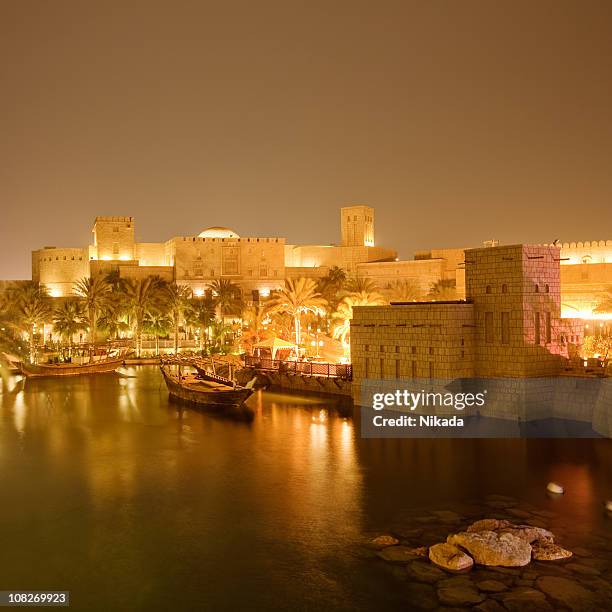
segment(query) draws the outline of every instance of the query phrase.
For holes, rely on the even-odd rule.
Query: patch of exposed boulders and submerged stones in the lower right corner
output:
[[[609,534],[568,528],[506,496],[488,496],[484,508],[410,512],[367,549],[399,580],[407,609],[583,612],[612,601]]]

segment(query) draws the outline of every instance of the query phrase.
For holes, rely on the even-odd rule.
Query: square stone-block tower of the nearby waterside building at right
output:
[[[466,251],[474,303],[476,376],[560,372],[559,249],[513,245]]]

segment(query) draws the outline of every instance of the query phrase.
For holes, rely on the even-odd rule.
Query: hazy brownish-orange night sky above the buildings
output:
[[[0,279],[227,225],[378,244],[612,239],[612,2],[0,0]]]

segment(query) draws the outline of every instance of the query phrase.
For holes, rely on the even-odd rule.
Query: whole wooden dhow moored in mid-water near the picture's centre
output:
[[[173,364],[178,365],[176,372],[170,369]],[[244,402],[254,392],[255,378],[242,386],[223,377],[202,377],[199,374],[185,373],[183,366],[195,368],[189,360],[162,361],[160,369],[171,398],[235,418],[253,418],[253,410]]]

